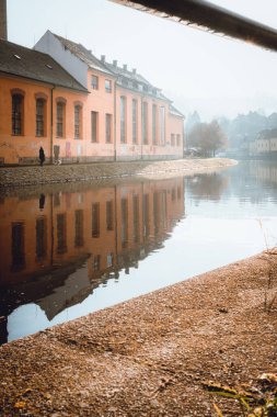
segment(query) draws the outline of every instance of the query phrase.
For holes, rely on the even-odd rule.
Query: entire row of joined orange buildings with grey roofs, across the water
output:
[[[184,116],[135,69],[47,31],[0,41],[0,164],[183,157]]]

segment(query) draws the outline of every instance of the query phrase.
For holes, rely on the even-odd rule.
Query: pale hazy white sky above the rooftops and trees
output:
[[[277,53],[107,0],[7,0],[9,41],[33,47],[49,29],[143,75],[188,114],[277,111]],[[277,0],[210,0],[277,29]]]

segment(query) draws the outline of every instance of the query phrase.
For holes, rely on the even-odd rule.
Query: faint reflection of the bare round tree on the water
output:
[[[195,176],[187,181],[189,192],[196,199],[219,201],[229,184],[229,177],[222,173],[205,173]]]

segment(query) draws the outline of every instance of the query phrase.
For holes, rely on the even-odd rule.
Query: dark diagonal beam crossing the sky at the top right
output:
[[[277,50],[277,31],[204,0],[112,0],[221,36]]]

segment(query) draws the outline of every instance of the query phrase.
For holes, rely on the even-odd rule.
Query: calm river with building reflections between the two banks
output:
[[[277,243],[277,167],[42,185],[0,196],[0,342]]]

